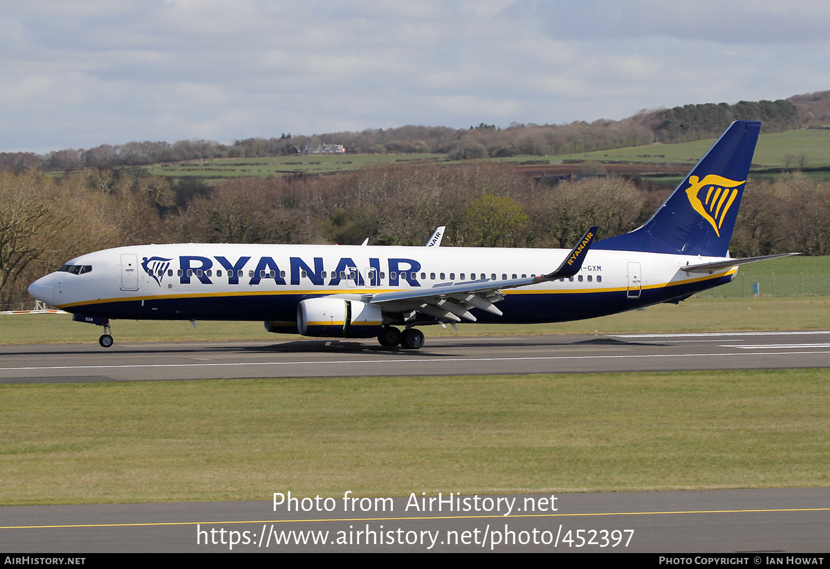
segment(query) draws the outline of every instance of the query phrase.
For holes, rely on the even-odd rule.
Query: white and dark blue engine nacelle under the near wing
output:
[[[303,336],[373,338],[383,328],[383,314],[360,300],[307,299],[297,306],[297,328]]]

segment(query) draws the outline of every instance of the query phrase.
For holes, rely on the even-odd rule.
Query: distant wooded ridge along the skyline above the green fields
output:
[[[549,156],[624,148],[652,142],[676,143],[715,138],[737,119],[761,120],[764,132],[799,129],[830,121],[830,91],[795,95],[788,100],[685,105],[641,111],[622,120],[591,123],[517,124],[501,129],[481,123],[469,129],[407,125],[312,136],[281,134],[270,139],[129,142],[95,148],[66,148],[46,154],[0,153],[0,169],[67,171],[115,168],[212,158],[261,158],[300,153],[306,146],[343,144],[351,153],[441,153],[449,159]]]

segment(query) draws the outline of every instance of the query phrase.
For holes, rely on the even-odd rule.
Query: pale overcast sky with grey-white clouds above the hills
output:
[[[830,89],[826,0],[2,0],[0,152]]]

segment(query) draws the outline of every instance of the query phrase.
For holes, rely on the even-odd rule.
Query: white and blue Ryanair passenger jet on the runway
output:
[[[570,251],[440,247],[442,227],[426,247],[127,246],[76,257],[29,294],[103,326],[104,348],[110,319],[261,320],[269,332],[417,349],[429,324],[554,323],[677,303],[730,282],[738,265],[785,256],[729,257],[759,132],[731,124],[644,225],[596,242],[592,227]]]

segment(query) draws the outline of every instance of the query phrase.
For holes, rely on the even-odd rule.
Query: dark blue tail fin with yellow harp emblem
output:
[[[761,124],[736,120],[652,218],[593,249],[725,257]]]

